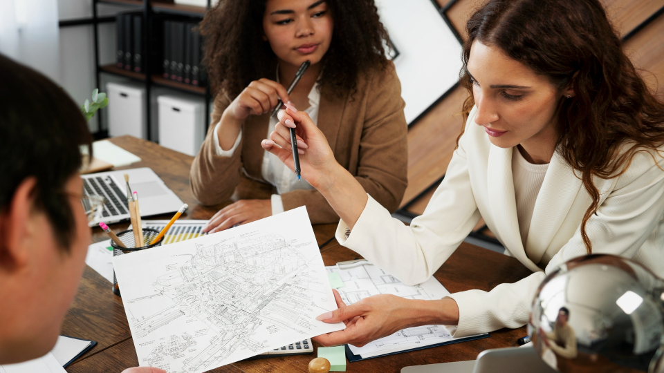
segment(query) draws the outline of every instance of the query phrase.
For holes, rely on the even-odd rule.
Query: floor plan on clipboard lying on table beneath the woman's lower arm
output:
[[[338,287],[337,291],[347,305],[376,294],[392,294],[407,299],[423,300],[441,299],[450,294],[436,278],[432,277],[420,285],[408,286],[366,260],[338,263],[325,268],[328,274],[337,272],[341,277],[343,287]],[[353,345],[349,347],[353,354],[369,358],[452,341],[454,340],[452,332],[454,327],[443,325],[410,327],[362,347]]]

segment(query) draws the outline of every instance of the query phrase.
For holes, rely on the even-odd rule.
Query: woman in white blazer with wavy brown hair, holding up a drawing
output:
[[[467,27],[468,120],[445,179],[409,227],[336,164],[306,113],[289,106],[263,146],[292,169],[295,127],[302,177],[342,219],[337,240],[404,283],[430,278],[480,218],[533,274],[434,301],[372,296],[346,307],[338,298],[319,320],[347,329],[318,336],[324,345],[364,345],[415,325],[457,325],[455,336],[520,327],[546,273],[588,253],[664,277],[664,104],[599,1],[492,0]]]

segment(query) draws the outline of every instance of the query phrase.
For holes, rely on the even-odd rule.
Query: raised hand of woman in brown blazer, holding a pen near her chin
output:
[[[249,115],[263,115],[273,111],[279,99],[288,102],[286,88],[273,80],[262,78],[244,88],[226,108],[224,114],[230,115],[237,121]]]

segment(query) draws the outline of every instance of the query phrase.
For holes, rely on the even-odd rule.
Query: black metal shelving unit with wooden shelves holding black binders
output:
[[[124,70],[122,68],[118,68],[115,66],[115,64],[109,64],[109,65],[100,65],[99,61],[99,28],[98,28],[98,23],[101,20],[100,17],[98,17],[97,14],[97,6],[100,3],[107,3],[107,4],[113,4],[113,5],[119,5],[119,6],[125,6],[128,8],[128,10],[131,10],[132,8],[134,10],[142,10],[143,13],[143,22],[142,22],[142,27],[143,27],[143,32],[142,32],[142,51],[141,54],[145,56],[145,66],[144,66],[144,73],[135,73],[130,70]],[[111,75],[116,75],[116,76],[121,76],[121,77],[127,77],[129,79],[132,79],[134,81],[142,82],[145,84],[145,108],[146,108],[146,113],[147,113],[147,137],[148,140],[151,140],[151,99],[150,99],[150,93],[151,93],[151,87],[152,86],[162,86],[166,88],[172,88],[175,90],[180,90],[181,92],[186,92],[186,93],[192,93],[194,95],[199,95],[202,96],[204,101],[205,101],[205,128],[207,132],[207,128],[210,125],[210,86],[209,84],[206,85],[205,87],[202,86],[192,86],[190,84],[183,84],[181,82],[176,82],[171,79],[165,79],[162,77],[160,74],[156,74],[153,71],[153,68],[155,66],[151,66],[151,55],[152,51],[154,50],[155,46],[151,44],[152,42],[152,32],[156,32],[156,30],[151,29],[151,20],[152,17],[158,13],[160,14],[171,14],[171,15],[180,15],[180,16],[186,16],[186,17],[195,17],[199,19],[203,19],[203,16],[205,15],[205,12],[210,9],[210,0],[208,0],[208,6],[207,7],[201,7],[201,6],[188,6],[188,5],[181,5],[181,4],[176,4],[173,2],[166,2],[166,1],[150,1],[150,0],[93,0],[93,6],[92,6],[92,12],[93,12],[93,19],[92,23],[94,26],[94,44],[95,44],[95,66],[96,66],[96,74],[95,74],[95,82],[96,86],[100,87],[100,75],[102,73],[105,74],[111,74]],[[108,18],[108,17],[105,17]],[[147,77],[147,78],[146,78]],[[101,87],[100,87],[101,88]],[[103,110],[103,109],[102,109]],[[102,123],[102,117],[100,116],[100,122],[99,122],[99,130],[97,133],[95,133],[95,138],[96,139],[102,139],[105,137],[108,137],[108,128],[104,128],[104,124]]]

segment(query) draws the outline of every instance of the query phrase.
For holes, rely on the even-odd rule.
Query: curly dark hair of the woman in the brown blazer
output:
[[[201,22],[205,64],[212,92],[236,97],[250,82],[272,77],[277,64],[270,44],[262,39],[267,0],[220,0]],[[374,0],[326,0],[334,32],[323,57],[320,86],[341,96],[353,91],[358,75],[369,68],[387,68],[383,44],[387,30]]]

